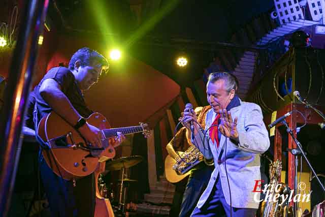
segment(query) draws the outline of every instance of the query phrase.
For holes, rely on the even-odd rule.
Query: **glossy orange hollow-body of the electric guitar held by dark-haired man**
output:
[[[87,122],[101,130],[110,128],[106,118],[100,113],[93,113]],[[49,143],[50,150],[43,150],[43,156],[48,166],[62,178],[83,177],[91,174],[98,162],[114,158],[115,149],[109,140],[102,140],[105,150],[90,151],[79,148],[86,146],[80,134],[55,112],[43,117],[39,123],[38,135]]]

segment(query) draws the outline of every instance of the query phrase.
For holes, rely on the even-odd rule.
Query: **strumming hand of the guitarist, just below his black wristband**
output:
[[[102,146],[100,129],[86,122],[85,125],[79,128],[79,132],[86,139],[87,145],[94,147]]]

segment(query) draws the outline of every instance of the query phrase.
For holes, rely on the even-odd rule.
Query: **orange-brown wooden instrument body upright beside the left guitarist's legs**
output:
[[[98,168],[94,172],[96,186],[96,204],[94,217],[114,217],[114,212],[109,199],[102,197],[98,188],[99,175],[105,171],[105,162],[98,164]]]

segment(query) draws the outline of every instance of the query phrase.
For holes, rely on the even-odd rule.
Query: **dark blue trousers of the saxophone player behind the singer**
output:
[[[181,204],[181,211],[179,217],[188,217],[196,207],[202,193],[207,188],[213,167],[202,165],[199,169],[194,169],[191,172],[190,177],[186,185],[186,189],[183,194],[183,201]]]

